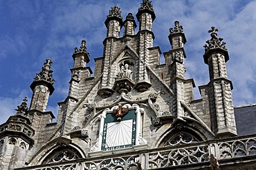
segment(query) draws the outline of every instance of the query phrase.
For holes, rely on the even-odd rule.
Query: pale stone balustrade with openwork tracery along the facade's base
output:
[[[102,156],[94,158],[55,162],[21,169],[35,170],[112,170],[112,169],[168,169],[175,166],[210,166],[210,155],[219,160],[241,162],[243,158],[255,155],[256,135],[235,138],[194,142],[187,145],[175,145],[158,149],[143,149],[115,154],[114,151],[102,151]],[[221,161],[220,161],[221,162]]]

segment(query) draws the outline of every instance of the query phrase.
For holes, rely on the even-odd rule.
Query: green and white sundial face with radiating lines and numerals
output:
[[[120,117],[116,114],[106,114],[102,132],[102,151],[122,149],[135,145],[136,141],[136,114],[135,110],[127,111]]]

